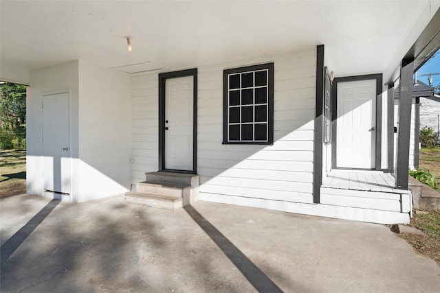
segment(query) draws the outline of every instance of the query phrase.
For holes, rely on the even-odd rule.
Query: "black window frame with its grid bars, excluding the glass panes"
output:
[[[247,86],[245,88],[242,88],[239,86],[239,88],[230,89],[229,88],[229,79],[228,77],[230,75],[245,75],[246,73],[252,72],[253,75],[256,71],[267,71],[267,84],[263,85],[256,85],[252,84],[252,86]],[[241,80],[241,79],[240,79]],[[254,78],[255,80],[255,78]],[[267,86],[267,103],[256,103],[255,101],[255,90],[261,89]],[[239,99],[239,104],[230,105],[229,103],[229,93],[230,91],[245,91],[247,89],[253,89],[253,96],[252,96],[252,104],[242,104],[241,98]],[[241,97],[241,95],[240,95]],[[245,105],[245,106],[243,106]],[[229,111],[230,106],[232,108],[239,108],[240,112],[245,110],[243,108],[251,106],[252,105],[252,115],[253,115],[253,121],[252,122],[231,122],[229,121]],[[266,115],[266,121],[255,121],[256,114],[255,114],[255,108],[259,106],[267,106],[267,115]],[[240,116],[240,119],[242,117]],[[261,119],[261,118],[260,118]],[[255,140],[255,126],[256,125],[263,125],[264,123],[267,124],[267,133],[266,133],[266,139],[263,140]],[[243,136],[240,135],[240,140],[229,140],[229,126],[230,124],[233,124],[232,126],[239,126],[242,128],[243,126],[252,125],[253,126],[253,132],[252,132],[252,140],[243,140]],[[225,69],[223,70],[223,144],[252,144],[252,145],[272,145],[274,143],[274,63],[265,63],[260,65],[250,65],[245,67],[238,67],[233,69]]]

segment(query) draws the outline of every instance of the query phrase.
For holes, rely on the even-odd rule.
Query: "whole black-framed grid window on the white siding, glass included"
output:
[[[274,63],[223,71],[223,143],[274,141]]]

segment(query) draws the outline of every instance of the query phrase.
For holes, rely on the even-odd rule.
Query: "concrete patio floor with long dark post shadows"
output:
[[[438,292],[440,267],[386,226],[122,196],[0,200],[1,292]]]

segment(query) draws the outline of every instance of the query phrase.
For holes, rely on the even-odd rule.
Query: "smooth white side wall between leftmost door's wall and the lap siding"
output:
[[[129,75],[79,61],[78,201],[120,194],[131,186]]]

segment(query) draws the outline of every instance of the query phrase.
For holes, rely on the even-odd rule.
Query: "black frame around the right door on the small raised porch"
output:
[[[331,104],[331,117],[332,117],[332,130],[333,135],[331,137],[331,167],[336,169],[336,144],[338,135],[338,83],[339,82],[354,82],[360,80],[376,80],[376,121],[375,121],[375,168],[381,170],[382,165],[382,73],[368,74],[368,75],[355,75],[344,78],[335,78],[333,80],[333,86],[331,89],[332,99]]]

